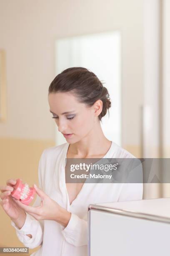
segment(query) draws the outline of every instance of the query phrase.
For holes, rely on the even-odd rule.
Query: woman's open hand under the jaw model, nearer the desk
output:
[[[28,212],[28,214],[32,215],[36,220],[55,220],[61,224],[65,223],[65,225],[67,225],[70,220],[71,213],[52,200],[35,184],[34,188],[37,195],[40,196],[42,200],[41,205],[32,207],[24,205],[20,200],[15,199],[15,202],[20,206],[20,208],[25,210],[25,212]]]

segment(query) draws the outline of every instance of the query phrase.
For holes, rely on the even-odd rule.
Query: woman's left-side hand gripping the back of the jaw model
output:
[[[15,221],[21,216],[25,216],[25,211],[21,209],[11,196],[11,192],[13,191],[12,185],[16,184],[16,180],[8,179],[6,186],[0,186],[0,191],[2,192],[0,195],[0,205],[6,214],[10,217],[11,220]]]

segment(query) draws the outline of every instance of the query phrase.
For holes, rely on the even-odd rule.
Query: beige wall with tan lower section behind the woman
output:
[[[54,146],[47,89],[55,76],[55,39],[114,29],[122,33],[122,146],[140,156],[143,0],[0,0],[0,48],[7,56],[0,183],[10,177],[37,183],[40,154]],[[0,246],[22,246],[2,209],[0,219]]]

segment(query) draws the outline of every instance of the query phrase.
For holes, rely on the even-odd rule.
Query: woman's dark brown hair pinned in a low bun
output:
[[[71,67],[58,74],[48,88],[48,95],[55,92],[72,92],[78,102],[91,107],[96,100],[102,100],[102,112],[99,120],[106,115],[111,107],[107,88],[98,77],[83,67]],[[108,110],[109,112],[109,110]]]

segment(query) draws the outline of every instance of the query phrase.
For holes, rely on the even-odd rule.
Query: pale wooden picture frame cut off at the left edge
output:
[[[6,102],[6,54],[0,49],[0,123],[7,120]]]

